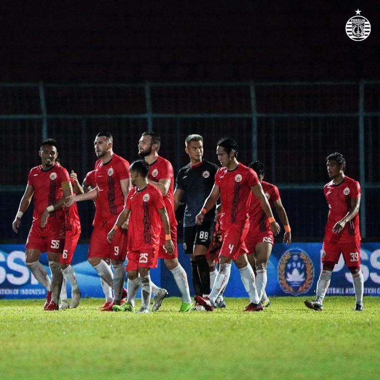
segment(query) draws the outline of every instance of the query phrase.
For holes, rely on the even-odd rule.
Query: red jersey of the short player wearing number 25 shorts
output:
[[[160,243],[161,217],[158,212],[165,207],[161,191],[148,184],[145,189],[133,188],[125,208],[131,210],[128,228],[128,245],[133,251],[157,250]]]

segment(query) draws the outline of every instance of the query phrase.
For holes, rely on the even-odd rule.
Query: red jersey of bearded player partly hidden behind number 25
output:
[[[174,181],[173,166],[165,158],[158,156],[157,159],[149,165],[148,178],[153,182],[159,182],[162,179],[170,180],[170,187],[164,196],[165,207],[169,217],[170,226],[177,226],[176,216],[174,214]]]

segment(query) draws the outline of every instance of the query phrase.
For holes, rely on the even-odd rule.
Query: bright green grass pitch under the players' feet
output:
[[[44,312],[44,300],[1,300],[0,379],[380,379],[380,299],[272,297],[242,313],[178,313],[179,298],[145,315],[102,313],[100,299]],[[137,304],[140,304],[138,300]]]

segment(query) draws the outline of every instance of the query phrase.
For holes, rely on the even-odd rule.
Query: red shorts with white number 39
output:
[[[322,263],[332,262],[337,264],[341,253],[347,267],[360,268],[360,240],[352,243],[333,244],[324,241],[322,245]]]

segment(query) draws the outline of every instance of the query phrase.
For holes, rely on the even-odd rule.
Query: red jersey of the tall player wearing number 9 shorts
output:
[[[101,158],[95,163],[95,181],[98,188],[96,199],[96,221],[117,217],[124,207],[124,195],[120,181],[129,178],[129,162],[113,154],[112,158],[103,164]]]

